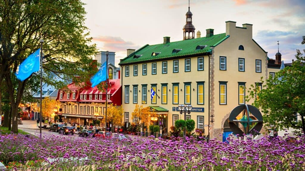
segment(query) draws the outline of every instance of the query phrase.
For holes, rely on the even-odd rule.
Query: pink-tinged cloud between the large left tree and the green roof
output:
[[[108,50],[113,52],[125,52],[126,49],[138,49],[139,46],[133,42],[125,41],[120,37],[98,36],[93,37],[93,42],[97,44],[100,50]]]

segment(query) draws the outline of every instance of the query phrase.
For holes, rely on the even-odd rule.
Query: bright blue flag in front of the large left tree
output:
[[[30,77],[34,72],[39,71],[40,66],[40,48],[34,53],[30,54],[19,66],[18,73],[15,75],[18,80],[23,81]]]

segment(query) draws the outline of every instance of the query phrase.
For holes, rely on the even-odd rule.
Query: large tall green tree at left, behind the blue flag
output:
[[[18,104],[25,90],[37,85],[39,75],[32,74],[24,81],[16,80],[14,73],[19,64],[35,50],[44,39],[43,81],[56,88],[66,83],[55,77],[86,82],[96,72],[92,70],[95,45],[84,26],[86,14],[80,0],[19,0],[0,1],[0,87],[5,79],[13,118],[18,115]],[[37,87],[35,90],[37,90]],[[13,120],[13,132],[18,132]]]

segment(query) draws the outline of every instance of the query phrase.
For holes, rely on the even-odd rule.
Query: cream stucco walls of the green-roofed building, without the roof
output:
[[[213,37],[213,35],[210,35]],[[125,115],[125,121],[132,122],[132,115],[135,103],[142,104],[142,87],[147,87],[146,106],[160,106],[168,109],[167,112],[159,112],[162,116],[166,115],[167,131],[173,125],[173,120],[183,119],[179,111],[175,111],[178,104],[186,104],[185,97],[188,92],[185,86],[190,85],[190,104],[193,108],[204,108],[204,112],[194,112],[190,118],[195,121],[196,128],[203,128],[204,134],[208,135],[208,127],[204,125],[213,125],[210,133],[211,138],[221,140],[224,132],[224,122],[228,118],[231,110],[239,104],[245,104],[242,98],[248,93],[244,88],[250,87],[251,84],[260,82],[260,78],[266,79],[269,75],[267,70],[267,52],[265,52],[252,39],[252,25],[243,24],[242,27],[236,27],[236,22],[226,22],[226,36],[217,46],[210,46],[211,53],[201,55],[184,55],[166,60],[148,60],[138,63],[120,64],[122,76],[122,104]],[[199,38],[200,39],[200,38]],[[183,40],[187,41],[187,40]],[[240,49],[242,45],[242,49]],[[137,52],[137,51],[136,51]],[[162,53],[162,52],[161,52]],[[203,58],[204,70],[198,69],[199,58]],[[185,61],[190,59],[191,71],[185,72]],[[179,63],[179,71],[174,73],[174,61]],[[167,73],[162,74],[163,63],[167,63]],[[152,64],[156,63],[156,74],[152,74]],[[147,75],[142,75],[143,64],[146,64]],[[134,66],[137,69],[137,76],[133,76]],[[155,65],[155,64],[154,64]],[[128,68],[129,76],[125,76]],[[204,104],[198,104],[199,85],[204,85]],[[174,104],[173,85],[178,85],[178,103]],[[157,97],[156,103],[150,101],[150,89],[156,86]],[[167,102],[162,103],[162,94],[166,86]],[[137,87],[137,88],[134,88]],[[222,88],[220,90],[220,87]],[[128,92],[127,92],[128,91]],[[134,92],[138,101],[133,101]],[[144,92],[145,94],[145,92]],[[220,99],[222,98],[222,99]],[[224,101],[225,98],[225,101]],[[125,100],[129,99],[129,103]],[[135,103],[134,103],[135,102]],[[251,104],[250,101],[247,104]],[[214,116],[213,123],[209,123],[209,116]],[[203,122],[201,122],[203,119]]]

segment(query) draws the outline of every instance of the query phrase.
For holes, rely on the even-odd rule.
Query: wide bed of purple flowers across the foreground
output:
[[[259,141],[164,141],[0,135],[0,161],[15,170],[305,170],[305,138]],[[49,158],[53,158],[48,160]],[[37,168],[29,161],[44,161]],[[49,162],[48,162],[49,161]],[[20,167],[20,165],[18,165]]]

